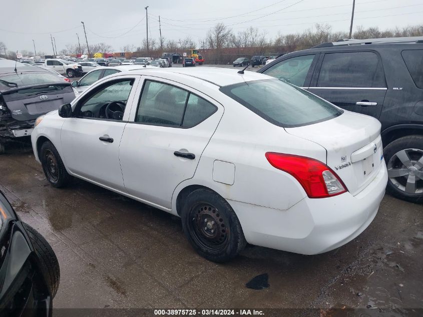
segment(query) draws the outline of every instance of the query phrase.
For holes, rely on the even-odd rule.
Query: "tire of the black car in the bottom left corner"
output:
[[[40,258],[40,269],[43,271],[52,298],[56,296],[60,283],[60,266],[53,248],[47,240],[29,224],[23,223],[35,251]]]

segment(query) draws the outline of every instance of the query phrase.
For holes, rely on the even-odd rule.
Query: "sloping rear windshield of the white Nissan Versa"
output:
[[[280,127],[299,127],[343,113],[332,104],[278,79],[243,82],[220,91]]]

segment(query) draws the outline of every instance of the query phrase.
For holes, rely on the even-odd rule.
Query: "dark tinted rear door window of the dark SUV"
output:
[[[317,87],[385,88],[382,63],[373,52],[325,54]]]

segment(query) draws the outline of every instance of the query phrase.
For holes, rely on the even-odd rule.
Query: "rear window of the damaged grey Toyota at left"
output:
[[[26,85],[44,84],[44,83],[62,83],[57,75],[50,72],[28,72],[28,73],[10,73],[0,76],[0,90],[7,91],[11,88]],[[13,84],[10,84],[13,83]],[[16,85],[18,86],[16,86]]]

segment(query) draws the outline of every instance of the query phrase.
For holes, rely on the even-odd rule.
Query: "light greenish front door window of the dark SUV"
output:
[[[313,59],[314,54],[292,57],[273,65],[263,74],[284,80],[298,87],[304,87]]]

